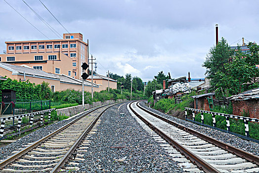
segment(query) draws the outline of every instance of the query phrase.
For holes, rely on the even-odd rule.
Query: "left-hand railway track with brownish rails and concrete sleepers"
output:
[[[62,128],[55,130],[42,139],[21,149],[16,154],[0,162],[1,173],[14,172],[50,172],[56,173],[63,166],[75,165],[71,161],[81,160],[80,156],[83,150],[89,145],[85,139],[89,131],[94,127],[102,113],[118,103],[106,105],[93,109],[82,115]]]

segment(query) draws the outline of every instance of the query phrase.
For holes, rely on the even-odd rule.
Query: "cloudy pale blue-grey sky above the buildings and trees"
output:
[[[59,39],[22,0],[6,0],[50,39]],[[24,0],[60,35],[65,29],[39,0]],[[172,78],[204,78],[202,63],[219,38],[236,45],[244,37],[259,43],[258,0],[42,0],[70,33],[89,39],[97,73],[152,80],[158,72]],[[0,0],[0,53],[5,41],[47,38]],[[236,43],[234,43],[236,42]],[[241,43],[241,41],[239,42]]]

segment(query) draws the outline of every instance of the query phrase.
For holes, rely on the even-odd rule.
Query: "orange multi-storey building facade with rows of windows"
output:
[[[88,44],[83,42],[80,33],[63,34],[62,40],[5,43],[6,54],[0,54],[0,62],[25,64],[37,70],[65,74],[75,79],[80,79],[81,65],[88,59]]]

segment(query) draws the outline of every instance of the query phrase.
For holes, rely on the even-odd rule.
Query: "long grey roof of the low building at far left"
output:
[[[17,66],[17,65],[8,64],[8,63],[3,63],[3,62],[0,62],[0,67],[12,72],[12,75],[22,75],[23,76],[25,74],[26,76],[59,80],[59,78],[56,77],[54,74],[50,74],[50,73],[44,72],[42,70],[21,67],[21,66]]]

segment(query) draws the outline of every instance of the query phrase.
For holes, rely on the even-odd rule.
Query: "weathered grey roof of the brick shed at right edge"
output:
[[[248,100],[248,99],[258,99],[258,98],[259,98],[259,87],[228,97],[228,99],[230,100]]]

